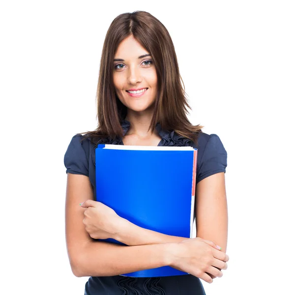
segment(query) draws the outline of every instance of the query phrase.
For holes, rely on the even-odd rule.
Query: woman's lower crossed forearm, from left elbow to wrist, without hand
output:
[[[114,276],[168,266],[173,256],[172,249],[172,243],[129,247],[93,241],[83,248],[73,272],[78,277]]]

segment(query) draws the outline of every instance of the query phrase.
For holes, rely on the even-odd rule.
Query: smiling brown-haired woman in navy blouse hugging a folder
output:
[[[173,42],[149,13],[124,13],[112,22],[102,51],[97,101],[97,129],[76,134],[64,156],[66,243],[73,273],[90,276],[86,295],[205,294],[200,279],[211,283],[221,277],[229,260],[227,154],[217,135],[203,133],[202,126],[186,118],[189,105]],[[94,150],[101,143],[198,148],[197,237],[148,231],[95,202]],[[110,237],[128,246],[97,241]],[[189,274],[119,276],[167,265]]]

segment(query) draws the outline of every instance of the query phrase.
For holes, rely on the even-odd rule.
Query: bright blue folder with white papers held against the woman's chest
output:
[[[192,237],[197,149],[129,150],[126,146],[108,146],[98,145],[95,150],[96,201],[145,229]],[[103,241],[123,244],[111,238]],[[184,274],[187,272],[163,266],[122,275]]]

